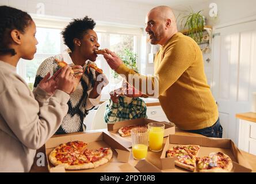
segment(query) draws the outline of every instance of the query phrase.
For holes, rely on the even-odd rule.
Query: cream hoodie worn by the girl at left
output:
[[[16,67],[0,61],[0,173],[29,172],[36,150],[59,128],[70,95],[40,87],[35,96]]]

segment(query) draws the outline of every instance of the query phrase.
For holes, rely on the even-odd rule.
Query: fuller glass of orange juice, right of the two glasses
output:
[[[148,124],[149,147],[151,151],[159,152],[163,149],[163,133],[165,132],[165,124],[160,122],[150,122]]]

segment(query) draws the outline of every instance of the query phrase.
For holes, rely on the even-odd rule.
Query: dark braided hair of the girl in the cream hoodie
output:
[[[0,6],[0,55],[11,53],[16,55],[13,48],[8,48],[11,43],[10,33],[13,29],[25,32],[30,25],[32,18],[28,13],[10,6]]]

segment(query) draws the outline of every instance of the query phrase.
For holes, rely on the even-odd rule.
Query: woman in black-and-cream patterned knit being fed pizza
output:
[[[76,64],[86,68],[77,89],[70,96],[68,113],[56,134],[85,131],[86,127],[83,124],[83,120],[89,110],[99,104],[101,90],[108,84],[108,79],[104,74],[100,74],[94,68],[86,67],[89,64],[96,65],[94,62],[97,54],[94,51],[100,47],[97,33],[93,30],[94,26],[95,22],[87,16],[82,19],[72,20],[62,32],[64,43],[70,51],[48,57],[37,70],[34,87],[39,84],[48,72],[53,75],[59,69],[59,61],[64,61],[71,66]],[[97,76],[103,81],[98,81]]]

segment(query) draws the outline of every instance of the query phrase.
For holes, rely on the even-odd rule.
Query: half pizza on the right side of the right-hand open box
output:
[[[216,152],[199,158],[197,166],[201,173],[227,173],[232,170],[233,164],[228,155]]]

